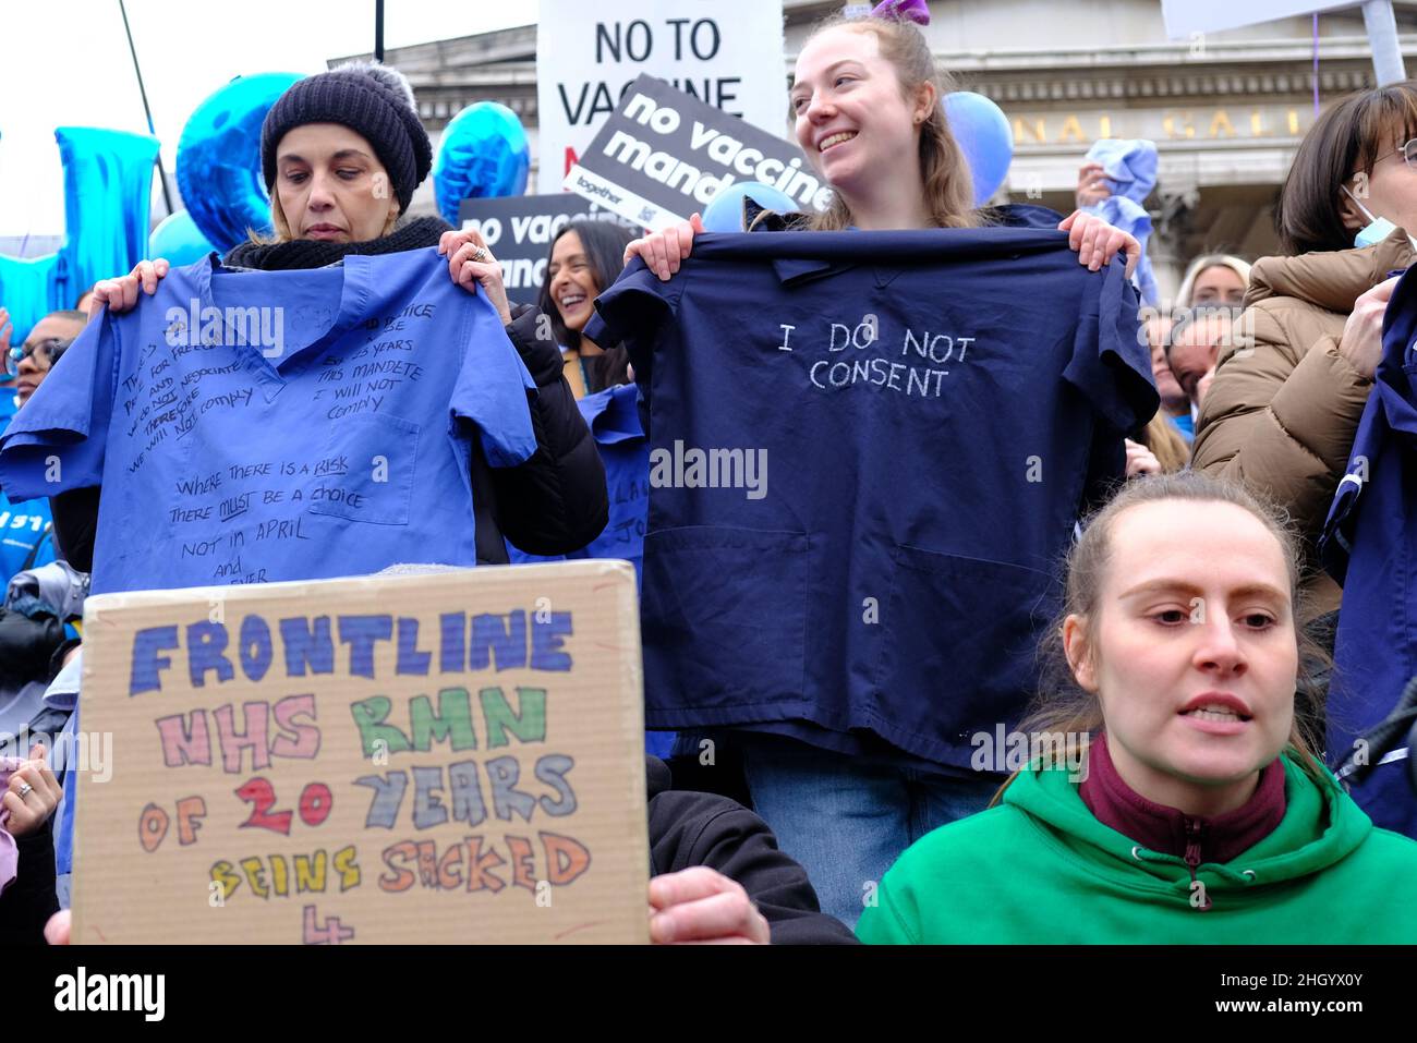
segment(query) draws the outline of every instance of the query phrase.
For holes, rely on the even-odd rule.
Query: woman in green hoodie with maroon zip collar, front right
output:
[[[1376,829],[1295,727],[1298,573],[1237,486],[1124,489],[1070,556],[1033,760],[897,860],[859,937],[1417,941],[1417,842]]]

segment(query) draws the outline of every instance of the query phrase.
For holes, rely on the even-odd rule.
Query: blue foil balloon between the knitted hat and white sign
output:
[[[455,225],[463,200],[520,196],[530,171],[531,149],[517,115],[497,102],[473,102],[448,120],[438,142],[438,213]]]

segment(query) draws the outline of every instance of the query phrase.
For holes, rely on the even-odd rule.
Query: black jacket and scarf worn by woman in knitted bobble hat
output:
[[[225,264],[262,271],[317,268],[346,254],[388,254],[436,247],[449,225],[419,218],[384,239],[329,244],[312,241],[272,245],[241,244]],[[507,336],[537,385],[531,402],[531,428],[537,451],[516,468],[493,468],[480,451],[472,453],[472,489],[476,510],[478,564],[506,564],[503,537],[530,554],[565,554],[580,550],[605,529],[609,496],[605,465],[591,429],[575,405],[563,376],[561,350],[551,337],[551,323],[538,322],[536,308],[513,309]],[[537,337],[544,333],[544,337]],[[50,502],[54,534],[74,568],[94,568],[94,534],[98,529],[99,490],[75,489]]]

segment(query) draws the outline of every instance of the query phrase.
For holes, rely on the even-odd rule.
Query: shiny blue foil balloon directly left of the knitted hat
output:
[[[177,191],[201,234],[221,252],[248,231],[271,231],[261,173],[261,123],[296,72],[237,77],[197,106],[177,139]]]

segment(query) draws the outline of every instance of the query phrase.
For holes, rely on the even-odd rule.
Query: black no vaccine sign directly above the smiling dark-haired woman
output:
[[[536,303],[537,291],[546,281],[551,239],[572,220],[615,221],[640,231],[638,224],[568,191],[463,200],[458,208],[459,224],[482,232],[502,265],[502,285],[514,305]]]

